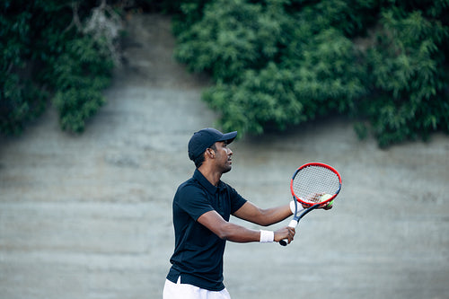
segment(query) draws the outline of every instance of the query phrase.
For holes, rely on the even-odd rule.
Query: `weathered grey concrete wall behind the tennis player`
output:
[[[172,59],[170,18],[134,15],[128,32],[127,63],[84,134],[62,132],[49,108],[0,138],[2,299],[162,298],[172,197],[194,171],[187,143],[217,116],[200,100],[207,76]],[[449,298],[449,136],[383,150],[352,126],[336,117],[230,145],[223,180],[260,207],[287,203],[304,163],[343,179],[334,207],[307,215],[289,246],[227,243],[233,299]]]

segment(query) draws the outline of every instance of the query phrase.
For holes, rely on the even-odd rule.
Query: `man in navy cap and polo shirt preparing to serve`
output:
[[[173,199],[175,249],[163,299],[229,299],[223,284],[226,241],[293,241],[295,228],[288,226],[270,232],[229,223],[230,215],[234,215],[267,226],[286,219],[295,210],[292,205],[261,209],[220,180],[231,171],[233,151],[228,145],[235,136],[237,132],[223,134],[215,128],[204,128],[189,140],[189,158],[197,169],[192,178],[180,184]]]

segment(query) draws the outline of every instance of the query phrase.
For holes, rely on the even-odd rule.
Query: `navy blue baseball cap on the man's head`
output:
[[[217,141],[226,141],[227,144],[232,143],[235,136],[237,136],[237,131],[223,134],[216,128],[203,128],[195,132],[189,141],[190,160],[194,161]]]

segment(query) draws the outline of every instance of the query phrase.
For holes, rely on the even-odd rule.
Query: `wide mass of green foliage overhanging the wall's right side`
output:
[[[224,129],[261,134],[340,113],[381,146],[449,132],[446,0],[189,7],[198,18],[176,27],[175,54],[215,79],[203,98]]]

